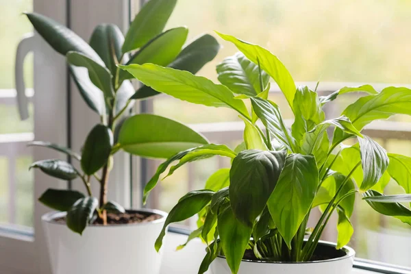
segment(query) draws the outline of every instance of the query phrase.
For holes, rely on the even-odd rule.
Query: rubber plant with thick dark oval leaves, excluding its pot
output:
[[[117,67],[118,64],[150,62],[197,73],[216,56],[220,45],[208,34],[184,46],[188,34],[186,27],[163,31],[176,2],[148,1],[125,37],[116,25],[101,24],[95,27],[88,43],[51,18],[26,14],[38,34],[65,56],[84,101],[100,117],[100,123],[92,127],[86,137],[82,153],[49,142],[32,143],[66,153],[80,163],[80,169],[58,159],[40,160],[30,166],[59,179],[82,179],[87,195],[73,190],[49,189],[39,199],[49,208],[68,212],[66,223],[74,232],[82,234],[96,216],[105,224],[107,212],[124,212],[124,208],[107,198],[110,169],[114,164],[112,156],[117,151],[169,158],[180,150],[208,143],[203,136],[176,121],[151,114],[129,116],[136,100],[158,92],[148,86],[135,90],[130,82],[132,75]],[[93,177],[100,185],[98,197],[90,188]]]

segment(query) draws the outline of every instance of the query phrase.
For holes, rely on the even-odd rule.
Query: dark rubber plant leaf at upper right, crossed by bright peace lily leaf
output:
[[[219,42],[214,37],[210,34],[204,34],[184,47],[169,66],[173,69],[196,74],[205,64],[216,57],[220,47]],[[142,86],[136,91],[133,99],[144,99],[158,94],[159,92],[153,88]]]

